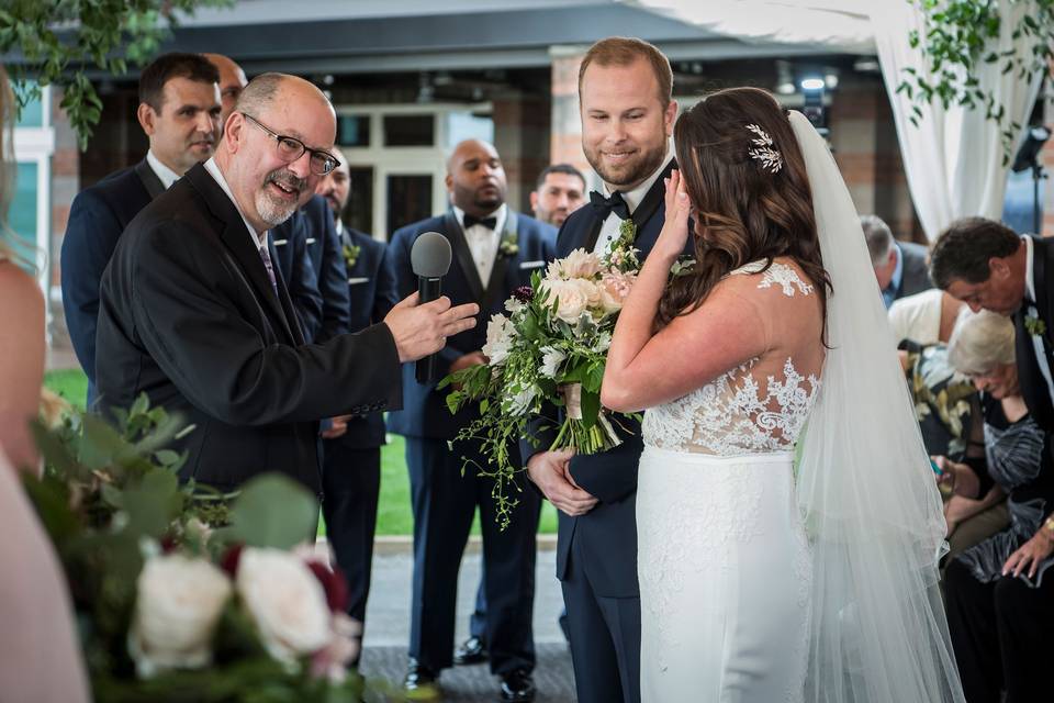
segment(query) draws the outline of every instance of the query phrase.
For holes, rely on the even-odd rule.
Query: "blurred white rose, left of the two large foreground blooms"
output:
[[[227,576],[183,555],[147,560],[136,582],[128,651],[142,677],[212,663],[212,635],[231,598]]]

